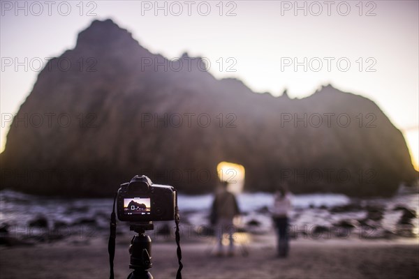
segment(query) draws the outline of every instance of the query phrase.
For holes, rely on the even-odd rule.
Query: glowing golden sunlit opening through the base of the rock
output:
[[[228,190],[242,193],[244,186],[244,167],[235,163],[221,162],[216,166],[221,181],[228,182]]]

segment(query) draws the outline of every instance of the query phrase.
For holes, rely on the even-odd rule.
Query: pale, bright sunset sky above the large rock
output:
[[[0,148],[48,57],[112,19],[149,51],[202,56],[217,78],[304,98],[322,85],[374,100],[418,169],[418,1],[0,1]]]

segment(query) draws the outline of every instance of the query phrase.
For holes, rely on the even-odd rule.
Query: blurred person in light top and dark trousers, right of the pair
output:
[[[288,243],[288,212],[291,210],[291,199],[285,185],[279,186],[274,195],[272,219],[277,229],[277,252],[278,257],[287,257]]]

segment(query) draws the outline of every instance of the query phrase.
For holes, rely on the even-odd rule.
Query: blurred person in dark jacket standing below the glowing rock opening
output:
[[[223,234],[227,233],[230,241],[227,255],[232,257],[234,255],[233,234],[235,232],[233,218],[240,214],[240,210],[235,195],[227,190],[228,182],[222,181],[221,186],[221,190],[215,194],[214,202],[212,202],[210,219],[211,224],[216,227],[216,236],[218,237],[216,255],[223,255]]]

